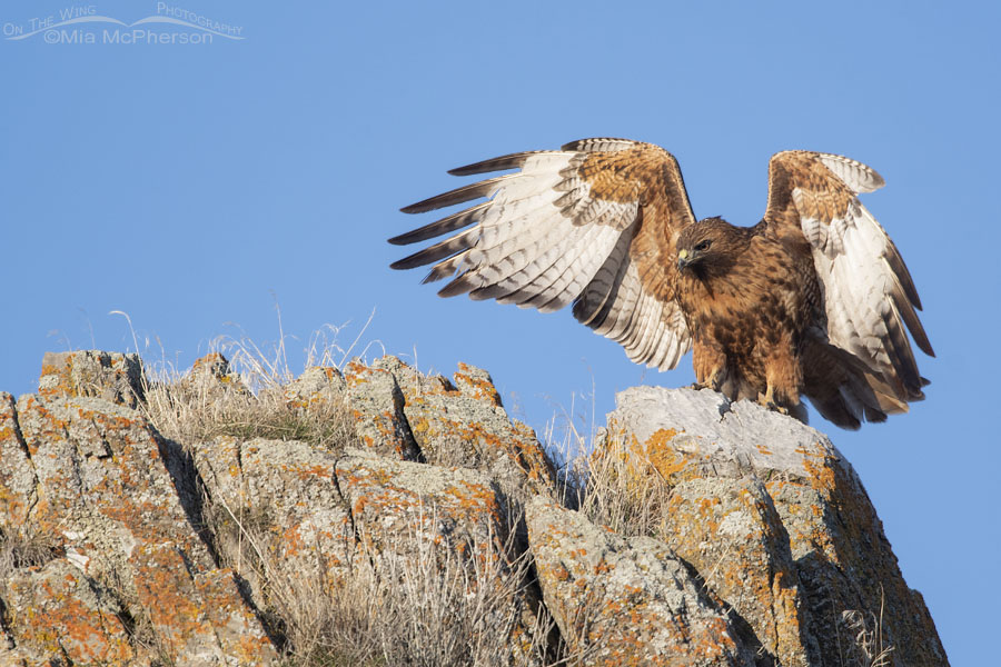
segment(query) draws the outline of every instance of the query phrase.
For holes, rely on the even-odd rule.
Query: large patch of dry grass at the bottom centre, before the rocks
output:
[[[285,640],[288,667],[565,664],[554,658],[559,648],[551,646],[554,621],[544,608],[523,615],[531,561],[509,557],[511,540],[498,549],[493,536],[474,539],[464,552],[478,557],[469,557],[413,534],[381,552],[359,548],[347,567],[320,560],[291,570],[270,556],[266,521],[209,516],[225,516],[209,521],[217,535],[240,532],[226,537],[240,545],[227,565],[260,583],[261,611]]]

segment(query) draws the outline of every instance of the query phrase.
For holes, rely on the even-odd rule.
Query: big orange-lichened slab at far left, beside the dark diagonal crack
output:
[[[75,646],[90,651],[95,664],[113,663],[123,655],[118,626],[86,619],[103,617],[117,605],[128,618],[148,621],[158,650],[178,661],[221,665],[239,656],[267,664],[276,658],[231,574],[216,567],[189,520],[168,471],[166,459],[175,454],[140,415],[99,398],[29,395],[18,401],[17,419],[28,455],[21,462],[38,488],[33,501],[22,496],[12,504],[29,507],[27,532],[46,536],[51,552],[86,577],[63,579],[62,594],[44,599],[18,590],[26,580],[52,580],[52,568],[65,565],[36,574],[19,568],[0,583],[9,633],[19,646],[51,649],[36,621],[41,604],[47,618],[79,610],[87,631],[103,635]],[[113,600],[106,601],[111,607],[95,606],[87,597],[93,589],[110,591]]]

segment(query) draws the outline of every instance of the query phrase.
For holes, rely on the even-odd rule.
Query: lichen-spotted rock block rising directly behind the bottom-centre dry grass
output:
[[[472,611],[497,635],[492,641],[506,646],[507,655],[488,664],[537,665],[537,651],[525,641],[537,624],[538,600],[515,565],[518,545],[509,537],[516,517],[493,480],[478,470],[347,454],[337,462],[337,486],[359,548],[380,576],[407,589],[407,579],[430,566],[442,586],[463,581],[467,595],[490,600],[488,609]]]

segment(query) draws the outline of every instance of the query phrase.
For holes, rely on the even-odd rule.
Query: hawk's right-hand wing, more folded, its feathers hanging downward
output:
[[[889,385],[901,401],[893,411],[900,411],[923,398],[921,388],[928,384],[918,372],[904,326],[919,348],[934,352],[918,319],[921,301],[911,275],[858,198],[882,186],[879,173],[841,156],[780,152],[769,163],[764,219],[772,233],[806,239],[823,288],[830,342]]]

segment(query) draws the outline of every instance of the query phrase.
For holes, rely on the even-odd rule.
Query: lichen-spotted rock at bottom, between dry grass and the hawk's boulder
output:
[[[585,665],[754,664],[666,544],[622,537],[542,498],[527,510],[543,597]]]

